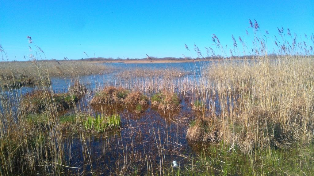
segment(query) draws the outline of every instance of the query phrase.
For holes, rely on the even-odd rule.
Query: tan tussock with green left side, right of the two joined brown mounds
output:
[[[180,97],[178,94],[172,91],[161,91],[158,94],[155,94],[151,98],[153,106],[156,106],[158,110],[177,110],[180,108]]]

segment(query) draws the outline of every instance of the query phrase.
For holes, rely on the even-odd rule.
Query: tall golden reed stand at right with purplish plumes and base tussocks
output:
[[[280,38],[275,36],[277,48],[273,50],[278,55],[269,56],[268,31],[263,34],[256,20],[249,22],[254,33],[251,51],[245,50],[247,44],[239,37],[244,57],[239,57],[232,35],[234,48],[230,48],[229,60],[224,60],[227,48],[212,35],[224,61],[203,67],[201,74],[208,82],[213,82],[219,101],[210,96],[210,91],[205,97],[202,93],[198,95],[201,101],[210,101],[210,109],[218,106],[219,110],[197,117],[187,130],[187,137],[204,141],[210,136],[206,141],[224,142],[246,153],[311,143],[314,133],[312,47],[307,47],[306,41],[297,43],[297,36],[291,36],[289,28],[289,39],[284,37],[284,28],[278,28]],[[248,32],[247,35],[250,36]],[[194,49],[202,56],[196,45]],[[206,92],[202,84],[197,89]]]

